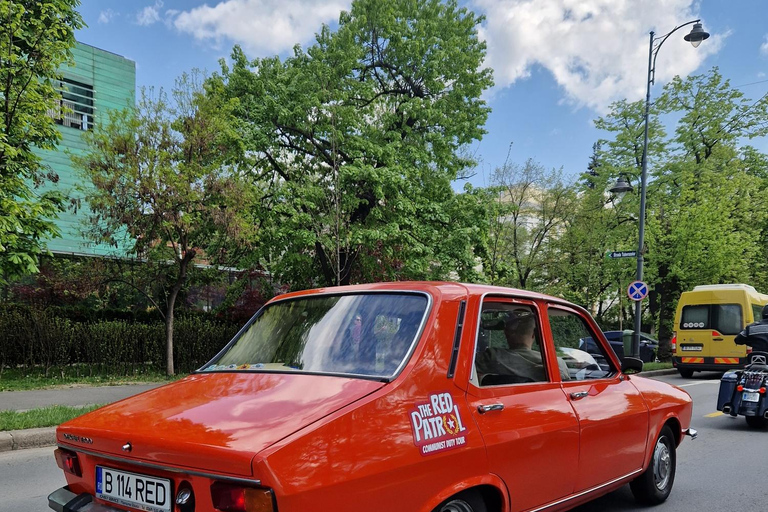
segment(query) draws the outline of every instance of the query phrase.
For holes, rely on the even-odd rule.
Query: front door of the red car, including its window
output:
[[[562,389],[579,421],[581,447],[576,492],[599,487],[643,467],[649,412],[640,392],[616,368],[615,358],[596,335],[588,316],[576,309],[550,305],[549,332],[558,358],[565,360],[570,380]],[[579,340],[592,337],[609,367],[578,350]]]

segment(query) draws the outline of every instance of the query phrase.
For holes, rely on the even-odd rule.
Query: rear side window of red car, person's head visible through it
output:
[[[540,322],[533,307],[494,301],[483,304],[474,378],[479,386],[548,380]]]

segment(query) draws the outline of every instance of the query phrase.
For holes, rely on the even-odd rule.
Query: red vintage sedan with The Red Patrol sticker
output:
[[[598,363],[579,350],[597,340]],[[582,308],[385,283],[270,301],[192,375],[61,425],[59,512],[566,510],[672,489],[690,396]]]

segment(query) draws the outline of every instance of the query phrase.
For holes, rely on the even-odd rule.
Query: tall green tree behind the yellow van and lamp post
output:
[[[673,136],[661,115],[675,120]],[[616,103],[597,121],[612,135],[601,141],[599,175],[639,184],[642,122],[641,102]],[[667,84],[650,123],[644,269],[657,297],[652,325],[666,344],[680,293],[764,275],[766,207],[755,198],[764,193],[766,158],[742,144],[766,134],[768,98],[747,100],[714,68]],[[637,215],[638,195],[628,194],[617,213]],[[629,239],[636,236],[635,227]]]

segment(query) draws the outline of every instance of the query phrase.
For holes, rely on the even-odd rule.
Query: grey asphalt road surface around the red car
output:
[[[765,510],[765,454],[768,431],[754,431],[742,417],[715,410],[719,374],[657,377],[682,386],[694,399],[693,427],[678,451],[677,477],[669,499],[649,509],[635,504],[629,486],[574,509],[577,512],[714,512]],[[45,512],[46,496],[64,485],[53,448],[0,453],[0,510]]]

